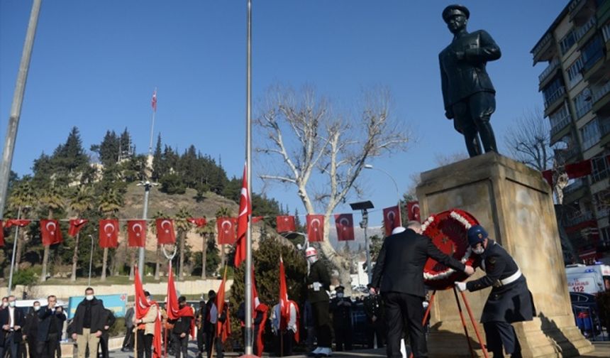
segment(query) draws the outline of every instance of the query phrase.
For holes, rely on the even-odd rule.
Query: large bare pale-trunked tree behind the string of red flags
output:
[[[351,192],[360,194],[357,178],[367,160],[404,151],[411,139],[403,123],[390,115],[387,89],[365,93],[360,104],[357,115],[333,112],[328,99],[311,87],[295,92],[277,86],[268,92],[255,120],[265,139],[257,153],[268,157],[269,166],[260,178],[294,186],[308,214],[321,210],[321,251],[339,269],[348,289],[351,263],[328,242],[330,217]]]

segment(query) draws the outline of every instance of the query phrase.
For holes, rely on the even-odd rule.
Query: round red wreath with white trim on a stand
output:
[[[470,213],[452,209],[428,217],[423,222],[423,234],[430,237],[440,251],[472,266],[475,259],[468,246],[467,232],[476,224],[479,222]],[[455,281],[464,281],[468,277],[465,273],[456,272],[433,259],[426,261],[423,276],[426,285],[434,290],[452,288]]]

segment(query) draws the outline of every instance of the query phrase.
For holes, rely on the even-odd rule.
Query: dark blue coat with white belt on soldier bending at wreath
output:
[[[509,253],[500,244],[489,239],[480,259],[480,266],[487,275],[467,282],[466,288],[472,292],[493,286],[483,308],[481,322],[512,323],[532,320],[536,310],[531,292],[525,276]]]

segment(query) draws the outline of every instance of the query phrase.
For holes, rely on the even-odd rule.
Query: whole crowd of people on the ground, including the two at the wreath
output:
[[[520,357],[521,349],[512,322],[531,320],[536,315],[526,278],[511,256],[487,232],[475,225],[468,230],[468,242],[487,275],[475,281],[456,282],[458,291],[478,291],[492,286],[492,293],[484,307],[482,322],[487,336],[487,347],[495,357],[504,351],[511,357]],[[329,357],[336,351],[354,347],[354,337],[364,330],[366,346],[384,347],[387,357],[402,357],[401,340],[409,341],[414,357],[427,357],[427,342],[422,322],[426,290],[423,266],[428,258],[462,271],[468,276],[474,268],[440,251],[428,237],[423,236],[421,224],[409,222],[407,227],[394,229],[379,251],[368,295],[352,299],[345,295],[341,285],[334,287],[331,297],[331,277],[326,265],[318,260],[314,247],[305,251],[308,261],[306,277],[307,296],[299,304],[287,300],[287,307],[277,303],[269,308],[255,303],[253,310],[253,352],[262,356],[265,327],[270,325],[274,347],[267,349],[279,357],[293,354],[294,342],[304,342],[309,355]],[[109,357],[109,331],[116,318],[113,312],[94,295],[93,288],[85,290],[85,298],[77,305],[74,318],[67,325],[67,334],[77,346],[77,356],[91,357],[99,352],[100,358]],[[223,323],[229,320],[228,302],[219,304],[215,291],[209,291],[208,300],[201,300],[195,310],[187,298],[177,299],[177,312],[168,315],[157,305],[148,291],[144,291],[148,310],[135,312],[133,305],[126,310],[126,335],[121,351],[133,352],[138,358],[152,358],[153,350],[167,347],[177,358],[189,357],[189,340],[196,340],[199,358],[223,357]],[[221,311],[218,310],[221,305]],[[355,327],[354,310],[363,310],[365,325]],[[173,310],[176,310],[175,308]],[[0,308],[0,357],[61,357],[60,340],[66,313],[57,305],[55,295],[49,295],[46,305],[39,301],[24,314],[16,308],[14,295],[3,298]],[[302,313],[302,315],[301,315]],[[245,307],[240,305],[238,318],[244,327]],[[171,318],[170,318],[171,317]],[[267,319],[268,318],[268,319]],[[196,327],[196,330],[195,330]],[[301,335],[301,328],[305,334]],[[160,335],[161,337],[158,337]],[[190,337],[189,337],[190,336]],[[302,340],[301,340],[302,338]],[[164,342],[160,345],[160,340]],[[360,342],[362,343],[362,342]]]

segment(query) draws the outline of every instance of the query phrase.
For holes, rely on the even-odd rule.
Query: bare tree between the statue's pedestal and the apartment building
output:
[[[504,136],[511,156],[532,168],[543,171],[553,165],[550,146],[550,124],[540,108],[524,111]]]

